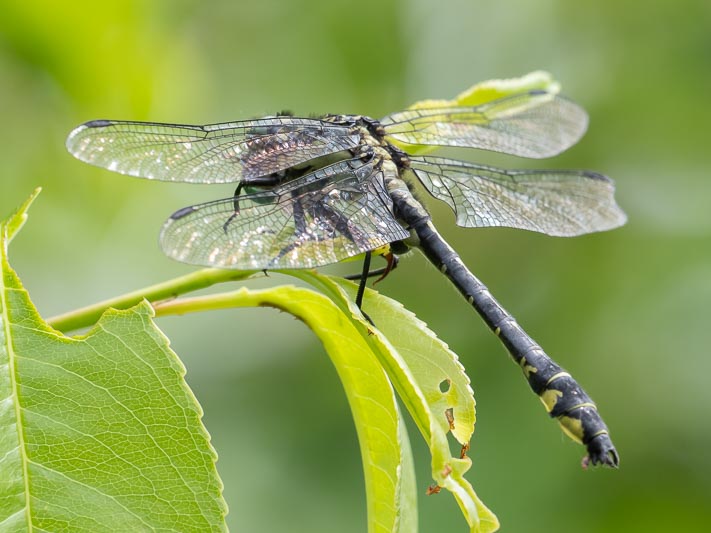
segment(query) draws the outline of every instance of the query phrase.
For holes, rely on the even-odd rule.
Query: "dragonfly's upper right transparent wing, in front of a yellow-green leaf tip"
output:
[[[577,104],[535,90],[474,107],[412,109],[382,119],[387,135],[406,144],[481,148],[521,157],[551,157],[585,133]]]

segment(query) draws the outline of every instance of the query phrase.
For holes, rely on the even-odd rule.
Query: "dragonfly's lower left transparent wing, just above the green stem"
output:
[[[352,159],[263,193],[181,209],[160,240],[178,261],[251,270],[319,267],[408,236],[376,164]]]

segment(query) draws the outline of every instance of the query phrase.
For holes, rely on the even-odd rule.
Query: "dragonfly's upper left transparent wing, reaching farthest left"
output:
[[[268,117],[206,126],[94,120],[78,126],[67,149],[121,174],[191,183],[264,176],[358,145],[347,124]]]

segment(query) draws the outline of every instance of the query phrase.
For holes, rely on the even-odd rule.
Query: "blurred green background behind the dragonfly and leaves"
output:
[[[45,316],[187,273],[159,251],[163,220],[232,192],[81,164],[64,151],[80,122],[209,123],[282,109],[378,117],[536,69],[588,110],[583,142],[553,161],[457,156],[608,174],[627,226],[570,240],[464,230],[445,206],[429,205],[470,268],[596,399],[620,470],[580,469],[583,449],[547,419],[498,341],[421,256],[378,288],[467,367],[478,402],[469,479],[503,531],[707,531],[708,0],[5,1],[0,214],[44,188],[13,242],[13,264]],[[292,280],[260,283],[281,282]],[[159,325],[205,409],[231,528],[364,531],[355,432],[314,336],[269,309]],[[414,429],[411,437],[421,530],[465,531],[448,494],[424,496],[429,457]]]

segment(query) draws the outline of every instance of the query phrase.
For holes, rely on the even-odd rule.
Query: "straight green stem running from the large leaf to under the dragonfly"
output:
[[[106,309],[127,309],[142,300],[157,302],[176,298],[181,294],[193,292],[223,283],[226,281],[239,281],[253,275],[255,271],[221,270],[205,268],[185,276],[173,278],[150,287],[129,292],[115,298],[104,300],[81,309],[75,309],[47,320],[50,326],[62,332],[73,331],[94,324]]]

